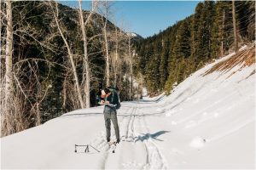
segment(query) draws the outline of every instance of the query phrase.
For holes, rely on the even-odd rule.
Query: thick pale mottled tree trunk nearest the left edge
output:
[[[7,31],[6,31],[6,55],[5,55],[5,117],[6,118],[6,127],[7,134],[15,133],[13,131],[12,122],[13,111],[12,111],[12,102],[13,102],[13,21],[12,21],[12,3],[6,1],[6,20],[7,20]]]

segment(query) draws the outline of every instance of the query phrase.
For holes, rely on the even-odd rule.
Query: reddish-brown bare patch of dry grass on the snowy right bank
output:
[[[216,65],[213,65],[212,68],[206,71],[206,73],[203,76],[206,76],[207,74],[210,74],[213,71],[228,72],[232,68],[234,68],[236,65],[241,65],[241,68],[243,68],[245,66],[253,65],[254,63],[255,63],[255,44],[245,49],[242,49],[237,54],[232,55],[229,59],[225,59],[224,61],[221,61]],[[234,73],[236,72],[233,72],[232,74]],[[255,70],[252,72],[251,75],[253,75],[254,73],[255,73]]]

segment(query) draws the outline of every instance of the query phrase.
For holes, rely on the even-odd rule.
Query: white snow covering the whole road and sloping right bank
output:
[[[202,76],[171,95],[123,102],[121,143],[109,152],[103,107],[72,111],[1,139],[2,168],[178,169],[255,167],[255,65]],[[112,127],[113,129],[113,127]],[[115,139],[112,132],[112,139]],[[75,144],[91,144],[89,153]]]

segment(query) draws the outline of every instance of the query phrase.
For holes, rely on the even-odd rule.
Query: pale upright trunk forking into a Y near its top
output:
[[[94,9],[93,6],[94,4],[92,3],[92,11]],[[87,17],[86,23],[89,22],[92,11],[90,11],[90,14]],[[90,65],[88,60],[88,48],[87,48],[88,41],[86,36],[86,28],[84,26],[84,16],[83,16],[81,0],[79,0],[79,16],[80,16],[80,25],[81,25],[83,41],[84,41],[84,65],[83,66],[85,67],[85,69],[84,69],[83,75],[85,74],[85,78],[83,76],[83,79],[85,79],[85,86],[84,86],[85,104],[86,104],[86,108],[89,108],[90,107]]]

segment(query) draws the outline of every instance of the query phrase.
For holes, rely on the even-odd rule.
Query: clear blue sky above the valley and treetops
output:
[[[77,1],[61,1],[71,7],[77,7]],[[83,8],[87,9],[84,2]],[[153,36],[160,30],[172,26],[177,20],[183,20],[195,11],[198,1],[115,1],[112,5],[112,20],[126,31],[136,32],[142,37]]]

